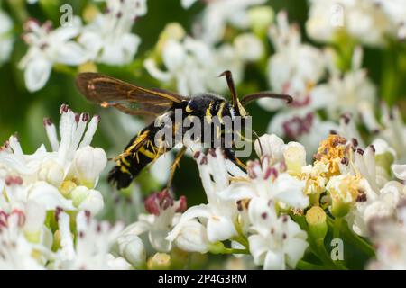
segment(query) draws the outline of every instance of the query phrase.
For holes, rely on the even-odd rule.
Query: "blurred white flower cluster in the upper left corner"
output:
[[[51,22],[29,20],[23,35],[29,49],[20,62],[27,89],[40,90],[55,65],[129,64],[141,42],[131,30],[146,12],[146,0],[107,0],[106,12],[89,13],[86,25],[78,16],[54,30]]]

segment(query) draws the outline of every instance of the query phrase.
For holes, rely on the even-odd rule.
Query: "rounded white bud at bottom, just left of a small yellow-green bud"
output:
[[[143,241],[136,235],[124,235],[117,238],[118,253],[134,267],[142,267],[146,261]]]

